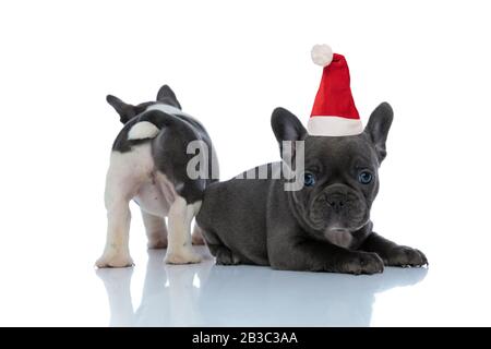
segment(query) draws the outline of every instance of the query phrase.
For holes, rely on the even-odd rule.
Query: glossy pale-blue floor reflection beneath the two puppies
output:
[[[201,249],[206,253],[204,248]],[[427,268],[373,276],[277,272],[258,266],[165,265],[148,251],[140,304],[133,268],[97,269],[111,326],[369,326],[375,294],[416,285]]]

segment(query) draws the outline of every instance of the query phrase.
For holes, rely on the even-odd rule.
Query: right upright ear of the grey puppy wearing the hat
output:
[[[388,103],[384,101],[373,110],[369,123],[364,128],[364,133],[370,137],[375,146],[379,161],[387,155],[385,142],[387,141],[388,130],[391,129],[394,111]]]

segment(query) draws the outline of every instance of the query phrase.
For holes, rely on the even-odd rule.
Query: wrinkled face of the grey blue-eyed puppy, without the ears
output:
[[[312,230],[355,231],[370,218],[379,190],[379,159],[366,134],[308,136],[303,188],[291,192],[297,209]]]

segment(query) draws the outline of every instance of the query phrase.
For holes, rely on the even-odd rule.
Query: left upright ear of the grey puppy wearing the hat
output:
[[[300,120],[285,108],[276,108],[271,116],[271,127],[279,144],[279,152],[282,157],[288,153],[290,159],[295,159],[296,144],[295,141],[303,141],[307,136],[307,130],[301,124]],[[291,154],[283,149],[283,142],[291,142]]]

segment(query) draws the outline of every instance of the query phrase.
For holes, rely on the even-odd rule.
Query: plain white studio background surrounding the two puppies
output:
[[[121,128],[107,94],[137,104],[169,84],[209,131],[228,179],[278,159],[275,107],[307,124],[322,73],[310,49],[326,43],[348,60],[364,122],[383,100],[395,110],[376,231],[430,261],[417,292],[400,290],[428,312],[373,324],[491,325],[490,10],[488,1],[2,1],[0,324],[87,324],[106,308],[77,270],[92,268],[105,240],[105,172]],[[145,248],[133,217],[132,251]],[[378,302],[386,314],[409,306]]]

